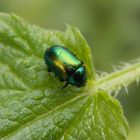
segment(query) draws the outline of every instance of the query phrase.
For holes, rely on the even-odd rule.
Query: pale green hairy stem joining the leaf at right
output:
[[[107,76],[97,79],[94,90],[103,89],[108,92],[113,92],[121,89],[123,86],[127,88],[129,84],[140,79],[140,59],[137,62],[124,67]]]

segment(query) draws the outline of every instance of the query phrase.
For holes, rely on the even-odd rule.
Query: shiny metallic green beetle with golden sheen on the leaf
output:
[[[52,46],[46,50],[44,58],[48,71],[54,72],[60,81],[66,81],[64,87],[68,84],[77,87],[85,85],[87,79],[85,66],[67,48],[60,45]]]

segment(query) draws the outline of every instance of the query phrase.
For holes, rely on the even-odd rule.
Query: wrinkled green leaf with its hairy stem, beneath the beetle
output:
[[[48,73],[44,52],[68,47],[84,62],[86,86],[63,90]],[[16,15],[0,14],[0,139],[125,140],[129,126],[112,96],[140,78],[140,59],[96,76],[91,51],[75,27],[44,30]]]

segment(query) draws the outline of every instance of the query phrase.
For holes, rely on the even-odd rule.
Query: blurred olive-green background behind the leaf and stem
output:
[[[44,28],[77,26],[88,41],[97,70],[140,57],[140,0],[0,0],[0,11],[16,13]],[[140,85],[119,93],[130,122],[129,140],[140,139]]]

